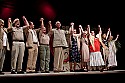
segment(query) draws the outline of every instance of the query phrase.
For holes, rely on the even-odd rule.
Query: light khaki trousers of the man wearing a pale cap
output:
[[[22,63],[25,51],[24,42],[13,42],[12,44],[12,54],[11,54],[11,69],[17,71],[22,70]]]

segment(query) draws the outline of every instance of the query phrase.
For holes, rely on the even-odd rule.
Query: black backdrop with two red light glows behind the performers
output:
[[[124,4],[120,1],[83,1],[83,0],[0,0],[0,18],[5,20],[9,17],[14,20],[22,16],[34,22],[35,27],[39,27],[39,19],[43,17],[45,24],[52,21],[53,27],[57,20],[62,26],[69,26],[70,22],[83,27],[90,24],[92,28],[101,25],[105,32],[109,27],[112,35],[119,34],[119,41],[122,48],[117,52],[118,69],[125,69],[124,54]],[[23,25],[23,22],[21,23]],[[6,57],[5,69],[10,68],[10,53]]]

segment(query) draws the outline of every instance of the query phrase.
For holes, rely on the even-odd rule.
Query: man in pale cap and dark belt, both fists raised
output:
[[[8,31],[12,33],[12,51],[11,51],[11,74],[24,74],[22,70],[25,42],[24,32],[28,29],[28,22],[25,16],[22,17],[25,23],[24,26],[20,26],[20,20],[14,19],[13,23],[11,18],[8,19]]]

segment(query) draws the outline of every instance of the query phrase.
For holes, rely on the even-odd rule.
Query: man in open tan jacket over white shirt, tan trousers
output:
[[[34,29],[34,24],[31,21],[29,22],[29,29],[26,34],[26,47],[28,48],[28,61],[26,72],[28,73],[35,72],[39,46],[37,33]]]

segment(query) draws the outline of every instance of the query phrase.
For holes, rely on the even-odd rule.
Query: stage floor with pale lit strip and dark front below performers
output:
[[[92,80],[125,80],[125,70],[114,71],[88,71],[88,72],[59,72],[54,73],[26,73],[26,74],[10,74],[5,72],[4,75],[0,75],[0,81],[92,81]],[[61,81],[60,81],[61,80]],[[17,83],[17,82],[16,82]]]

